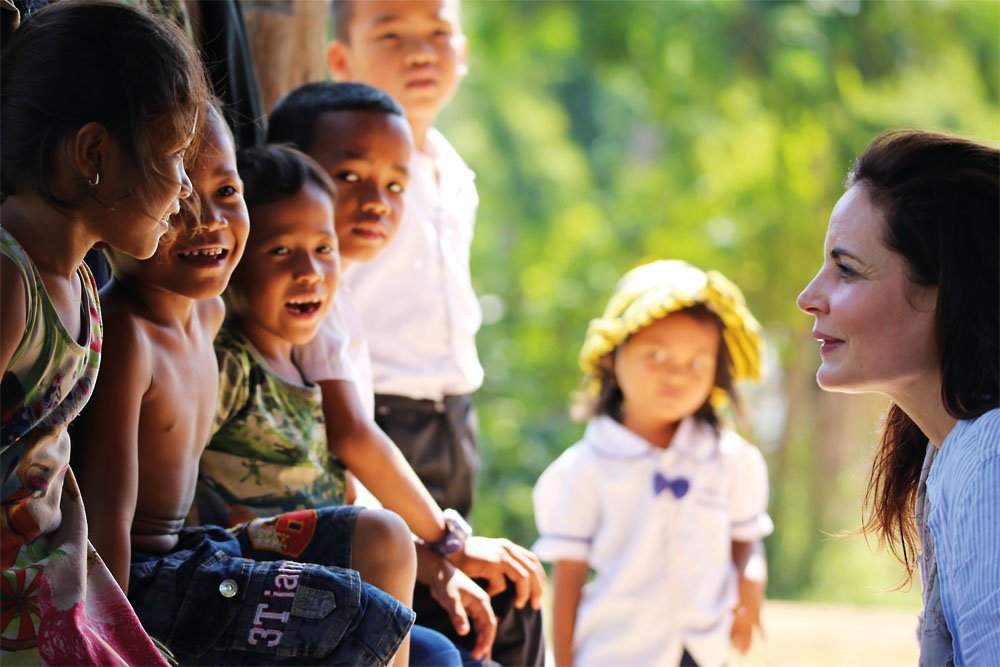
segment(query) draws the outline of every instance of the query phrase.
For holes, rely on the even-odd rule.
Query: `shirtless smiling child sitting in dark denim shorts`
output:
[[[108,251],[104,359],[80,429],[91,539],[147,631],[182,661],[387,664],[413,622],[397,601],[412,591],[413,546],[395,515],[334,508],[229,532],[182,528],[215,415],[219,295],[249,229],[216,109],[188,173],[196,204],[152,259]],[[360,578],[346,569],[352,555]]]

